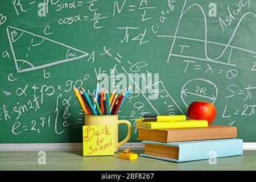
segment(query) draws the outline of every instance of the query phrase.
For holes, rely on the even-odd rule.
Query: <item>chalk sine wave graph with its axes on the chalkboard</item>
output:
[[[183,57],[186,59],[196,59],[196,60],[201,60],[201,61],[208,61],[210,63],[217,63],[217,64],[223,64],[223,65],[229,65],[231,67],[236,67],[236,64],[232,64],[230,63],[230,57],[232,55],[232,51],[233,49],[237,49],[240,51],[245,51],[248,53],[253,53],[256,54],[256,50],[250,50],[250,49],[245,49],[245,48],[240,48],[240,47],[236,47],[236,46],[232,46],[231,42],[234,39],[234,36],[237,33],[238,28],[241,26],[241,23],[243,21],[243,19],[246,16],[253,16],[256,20],[256,14],[253,12],[247,12],[245,14],[242,15],[242,17],[238,20],[238,23],[236,25],[236,27],[234,28],[234,31],[232,33],[232,36],[230,37],[228,43],[223,44],[223,43],[218,43],[218,42],[212,42],[208,40],[208,27],[207,27],[207,16],[203,10],[203,7],[201,7],[199,4],[194,3],[193,5],[189,6],[187,9],[185,9],[185,6],[187,5],[187,0],[184,1],[184,5],[183,8],[181,10],[180,13],[180,17],[179,20],[177,22],[177,27],[175,30],[175,34],[174,35],[157,35],[158,37],[165,37],[165,38],[172,38],[173,42],[171,44],[171,48],[170,48],[170,53],[168,55],[167,58],[167,63],[170,62],[171,60],[171,56],[176,56],[176,57]],[[203,15],[203,19],[204,19],[204,39],[194,39],[194,38],[188,38],[188,37],[184,37],[184,36],[177,36],[178,32],[179,32],[179,28],[180,28],[180,23],[181,23],[181,19],[183,18],[183,16],[192,8],[198,8],[202,15]],[[199,56],[191,56],[191,55],[184,55],[181,52],[180,53],[174,53],[174,46],[175,43],[177,42],[177,40],[186,40],[186,41],[193,41],[193,42],[203,42],[204,43],[204,57],[199,57]],[[214,44],[214,45],[218,45],[218,46],[222,46],[224,47],[220,53],[220,55],[218,55],[217,57],[211,58],[208,55],[208,44]],[[228,60],[224,60],[224,54],[228,52]]]

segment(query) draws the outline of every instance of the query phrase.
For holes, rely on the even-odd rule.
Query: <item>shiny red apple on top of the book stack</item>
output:
[[[195,101],[188,106],[189,119],[204,119],[208,124],[213,122],[216,117],[216,107],[207,101]]]

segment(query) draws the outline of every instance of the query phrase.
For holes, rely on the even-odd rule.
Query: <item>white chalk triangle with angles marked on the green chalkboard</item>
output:
[[[89,55],[87,52],[20,28],[7,26],[7,35],[18,73],[67,63]]]

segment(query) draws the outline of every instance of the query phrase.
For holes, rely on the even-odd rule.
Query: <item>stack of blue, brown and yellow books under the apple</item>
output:
[[[136,119],[138,140],[143,140],[141,156],[187,162],[243,155],[243,140],[237,139],[237,127],[209,125],[203,120],[146,121]],[[174,121],[175,120],[175,121]]]

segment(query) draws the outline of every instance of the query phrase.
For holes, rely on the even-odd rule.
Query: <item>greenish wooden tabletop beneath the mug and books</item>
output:
[[[134,151],[141,154],[143,150]],[[38,151],[0,151],[0,170],[256,170],[256,151],[244,151],[242,156],[171,163],[143,158],[119,159],[114,156],[83,157],[82,151],[46,151],[46,164],[38,164]]]

